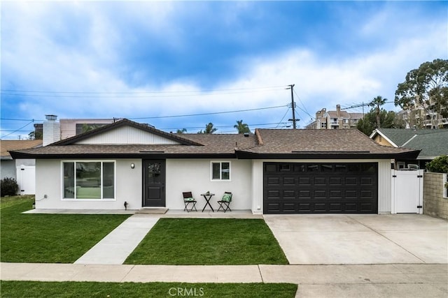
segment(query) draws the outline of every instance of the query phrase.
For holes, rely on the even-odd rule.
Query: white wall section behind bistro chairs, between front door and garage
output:
[[[211,161],[230,161],[230,181],[211,181]],[[167,160],[166,207],[183,209],[182,193],[191,191],[201,211],[205,200],[201,193],[214,193],[211,206],[218,209],[225,191],[232,192],[232,210],[248,210],[252,206],[251,161],[238,159],[169,159]],[[209,208],[207,206],[207,208]]]

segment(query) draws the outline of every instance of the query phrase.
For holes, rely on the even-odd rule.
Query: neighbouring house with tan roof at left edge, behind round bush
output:
[[[0,140],[1,160],[0,179],[13,178],[19,184],[20,195],[34,195],[35,165],[34,158],[13,159],[8,151],[36,148],[42,146],[42,140]]]

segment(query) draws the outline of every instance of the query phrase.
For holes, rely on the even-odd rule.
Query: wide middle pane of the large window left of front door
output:
[[[101,163],[76,163],[76,198],[101,199]]]

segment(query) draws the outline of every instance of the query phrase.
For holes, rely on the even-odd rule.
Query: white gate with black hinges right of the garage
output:
[[[423,170],[392,170],[392,214],[423,214]]]

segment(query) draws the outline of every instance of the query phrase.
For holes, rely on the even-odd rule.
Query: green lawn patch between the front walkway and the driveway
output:
[[[125,264],[288,264],[262,219],[161,218]]]

